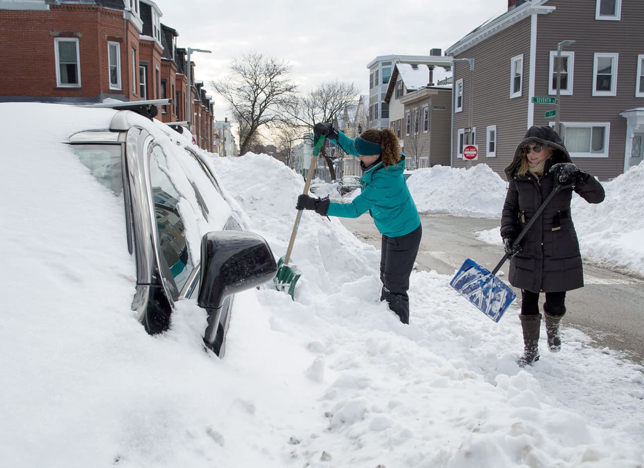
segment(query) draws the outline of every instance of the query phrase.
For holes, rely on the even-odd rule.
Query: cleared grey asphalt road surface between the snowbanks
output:
[[[381,236],[368,214],[339,218],[357,238],[381,247]],[[500,220],[421,216],[422,241],[417,257],[419,270],[436,270],[453,276],[467,257],[492,270],[503,256],[501,245],[490,245],[474,233],[499,226]],[[507,272],[508,263],[501,268]],[[569,324],[589,335],[596,346],[622,351],[629,359],[644,362],[644,279],[584,261],[583,288],[566,295]],[[507,283],[507,277],[502,277]],[[520,290],[513,288],[520,298]],[[543,303],[543,294],[540,303]]]

